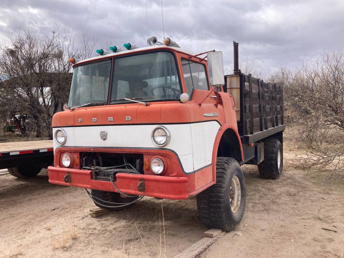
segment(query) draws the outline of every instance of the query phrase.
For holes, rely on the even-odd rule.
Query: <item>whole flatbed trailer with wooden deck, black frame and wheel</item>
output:
[[[31,178],[54,160],[53,141],[0,143],[0,169],[18,178]]]

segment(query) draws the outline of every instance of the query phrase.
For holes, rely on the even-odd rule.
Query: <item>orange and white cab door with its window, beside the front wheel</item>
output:
[[[198,190],[215,181],[212,153],[217,132],[225,122],[225,114],[223,105],[217,105],[216,92],[209,87],[205,61],[186,55],[181,56],[180,61],[184,92],[190,96],[187,104],[191,118],[195,190]]]

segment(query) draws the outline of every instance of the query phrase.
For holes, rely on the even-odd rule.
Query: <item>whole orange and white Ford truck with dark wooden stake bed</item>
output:
[[[242,74],[236,42],[233,75],[224,75],[222,52],[194,54],[168,38],[148,45],[70,58],[49,182],[83,187],[113,211],[143,196],[197,195],[202,223],[232,230],[245,211],[240,166],[258,165],[268,179],[282,172],[283,85]]]

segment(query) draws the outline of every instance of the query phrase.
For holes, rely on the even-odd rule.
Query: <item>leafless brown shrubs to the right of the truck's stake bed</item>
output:
[[[284,82],[285,117],[302,153],[292,166],[318,169],[344,178],[344,53],[324,52],[299,68],[282,67],[272,82]]]

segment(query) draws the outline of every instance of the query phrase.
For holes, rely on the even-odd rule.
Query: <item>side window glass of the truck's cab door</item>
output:
[[[208,90],[209,87],[204,65],[183,59],[181,62],[187,94],[190,95],[192,89]]]

